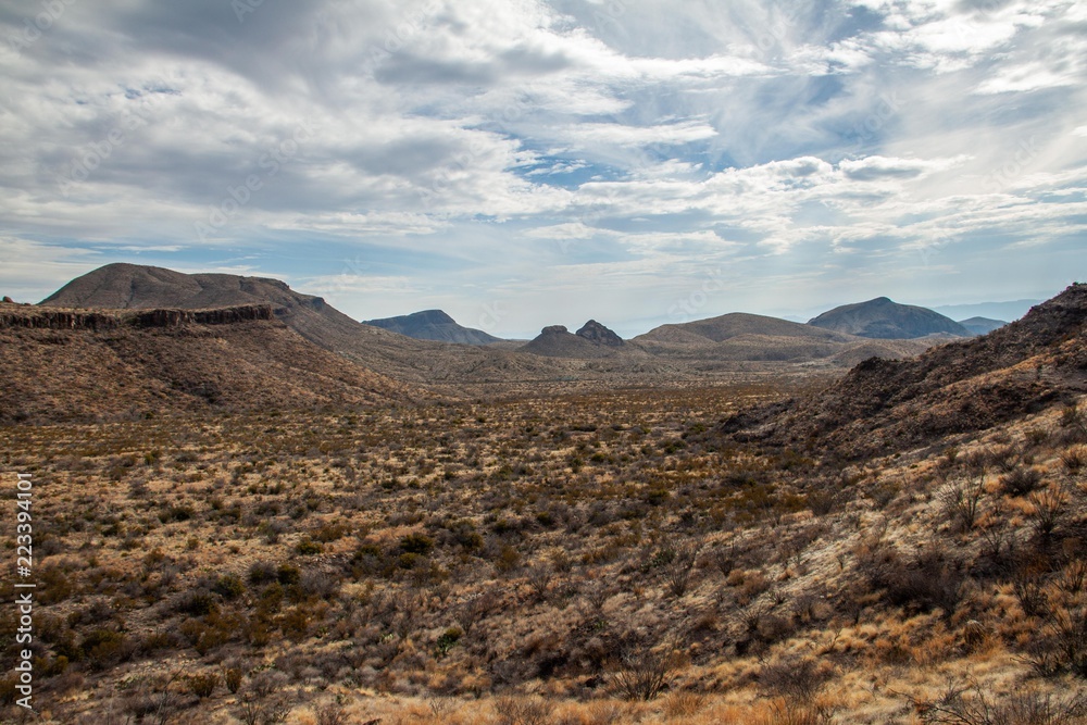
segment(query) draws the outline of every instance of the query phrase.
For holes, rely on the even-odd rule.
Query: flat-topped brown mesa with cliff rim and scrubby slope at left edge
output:
[[[267,304],[66,310],[0,303],[0,423],[434,398],[307,341]]]

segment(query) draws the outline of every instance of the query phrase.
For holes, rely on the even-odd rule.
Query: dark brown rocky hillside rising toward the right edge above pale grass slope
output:
[[[739,439],[845,458],[924,447],[1087,392],[1087,285],[1022,320],[912,360],[871,359],[824,392],[733,416]]]

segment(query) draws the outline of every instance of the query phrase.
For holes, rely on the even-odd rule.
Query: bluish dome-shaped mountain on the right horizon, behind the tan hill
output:
[[[813,327],[882,340],[914,339],[927,335],[970,337],[970,330],[938,312],[898,304],[886,297],[845,304],[808,321]]]

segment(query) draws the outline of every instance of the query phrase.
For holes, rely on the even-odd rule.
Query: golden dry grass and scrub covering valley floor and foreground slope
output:
[[[766,395],[0,428],[43,722],[919,723],[949,675],[1008,712],[1082,687],[1061,411],[840,466],[714,434]]]

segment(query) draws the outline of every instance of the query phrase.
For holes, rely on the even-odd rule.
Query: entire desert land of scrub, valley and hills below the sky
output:
[[[1085,323],[514,341],[130,264],[5,301],[4,722],[1087,722]]]

